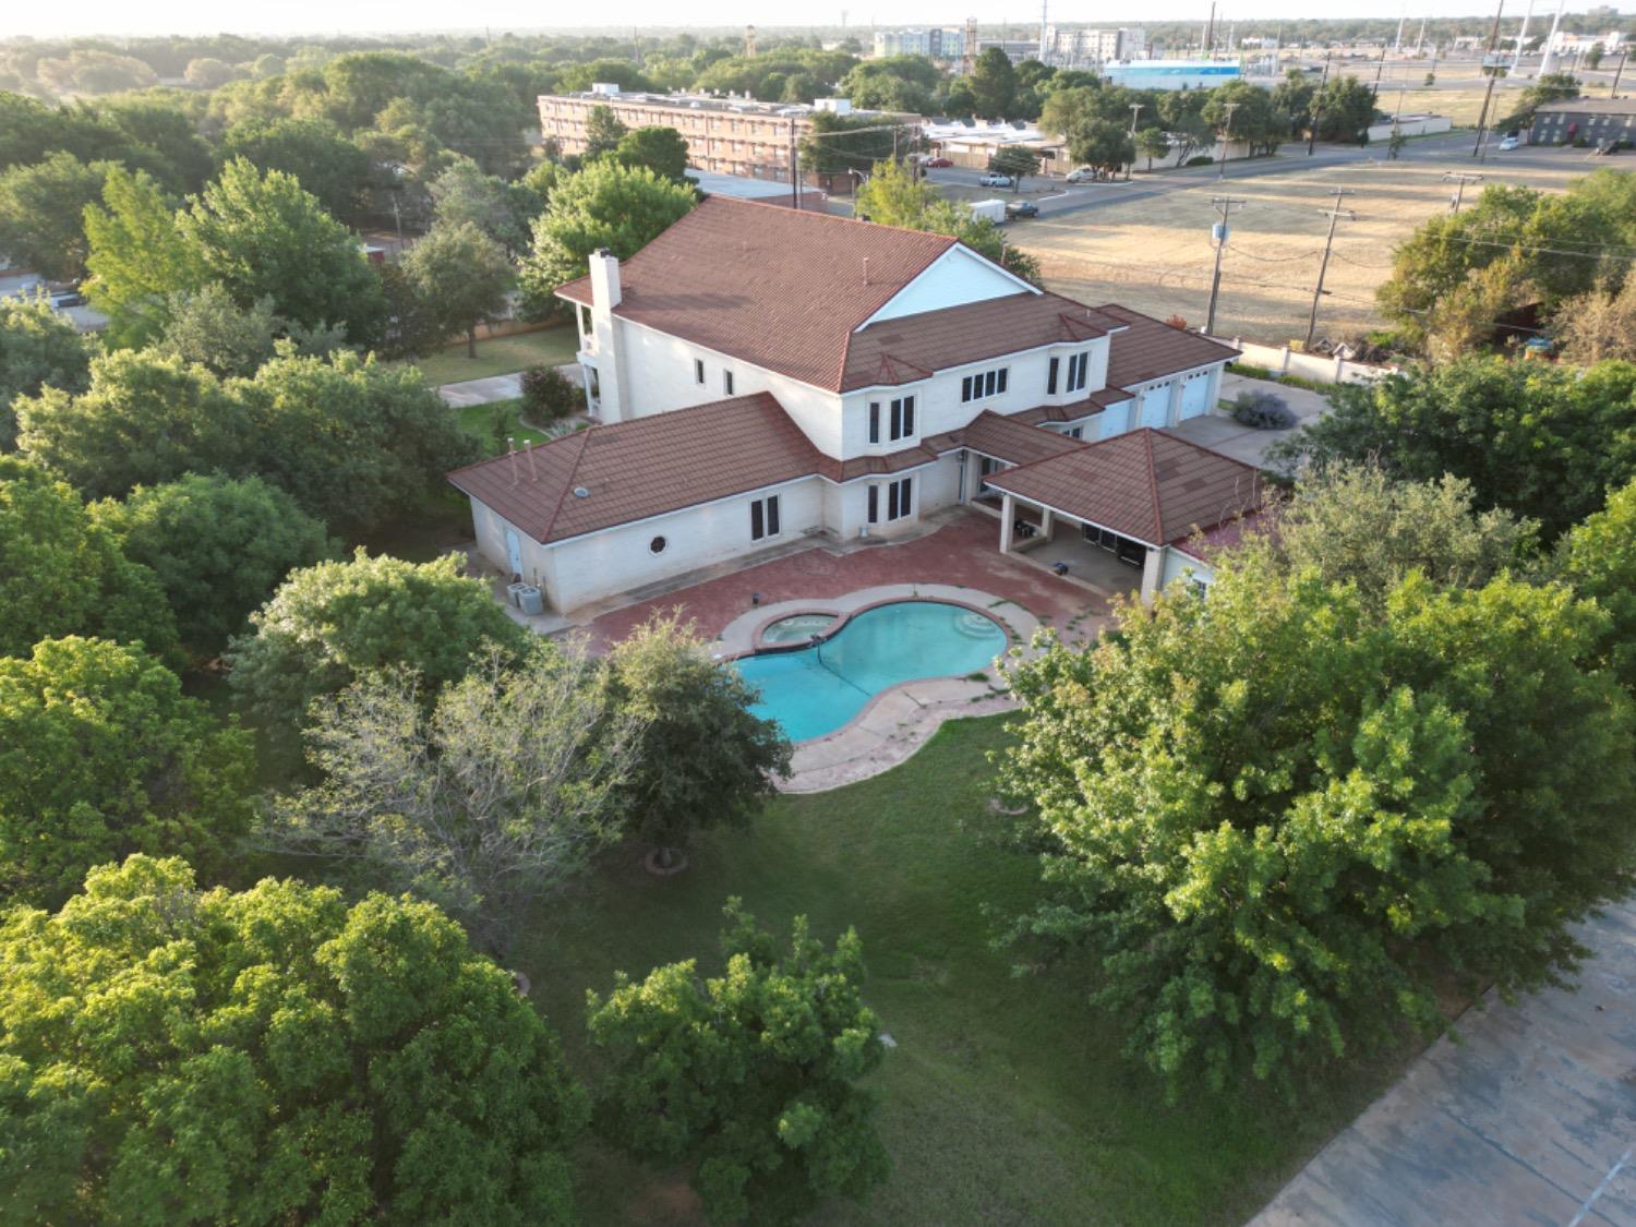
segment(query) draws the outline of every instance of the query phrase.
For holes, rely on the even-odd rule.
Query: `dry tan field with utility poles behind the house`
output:
[[[1451,185],[1443,172],[1459,159],[1373,162],[1229,180],[1227,193],[1247,203],[1232,218],[1222,257],[1216,330],[1263,344],[1306,334],[1317,281],[1324,211],[1332,188],[1346,188],[1345,208],[1356,221],[1340,221],[1319,308],[1319,335],[1333,340],[1379,327],[1374,288],[1391,270],[1392,247],[1415,226],[1445,213]],[[1469,169],[1461,164],[1459,169]],[[1593,167],[1577,160],[1549,170],[1497,167],[1487,183],[1526,183],[1561,190]],[[1119,301],[1158,317],[1204,322],[1211,286],[1211,196],[1217,185],[1130,200],[1060,219],[1018,222],[1019,247],[1036,255],[1045,285],[1083,303]],[[1481,190],[1481,188],[1476,188]]]

